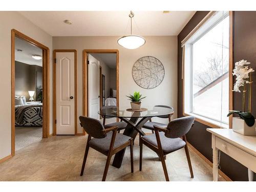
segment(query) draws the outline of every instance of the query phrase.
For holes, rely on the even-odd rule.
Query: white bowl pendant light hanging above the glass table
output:
[[[131,18],[131,35],[120,37],[117,40],[117,43],[126,49],[137,49],[143,46],[146,41],[142,36],[132,34],[132,19],[134,17],[134,13],[132,11],[129,14],[129,17]]]

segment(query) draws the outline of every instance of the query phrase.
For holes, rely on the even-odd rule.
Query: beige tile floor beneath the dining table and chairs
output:
[[[100,181],[106,157],[91,148],[84,175],[79,176],[86,140],[87,136],[53,136],[30,144],[0,164],[0,181]],[[167,156],[170,181],[212,181],[211,167],[196,153],[189,152],[195,178],[190,178],[182,149]],[[137,137],[134,173],[131,173],[130,149],[127,148],[121,168],[110,166],[106,181],[165,181],[165,178],[158,156],[146,146],[143,148],[142,171],[139,171]]]

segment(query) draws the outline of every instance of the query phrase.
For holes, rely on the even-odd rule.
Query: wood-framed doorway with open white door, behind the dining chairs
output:
[[[87,65],[86,65],[87,64]],[[119,106],[118,50],[83,51],[83,115],[99,119],[102,106]]]

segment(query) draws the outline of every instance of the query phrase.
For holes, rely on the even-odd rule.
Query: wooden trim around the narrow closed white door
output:
[[[53,135],[56,135],[56,53],[74,53],[74,78],[75,78],[75,135],[77,134],[77,52],[75,49],[53,50]]]

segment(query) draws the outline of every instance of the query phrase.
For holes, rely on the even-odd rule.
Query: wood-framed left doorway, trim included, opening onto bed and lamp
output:
[[[11,154],[14,156],[15,150],[49,137],[49,48],[12,29],[11,50]]]

